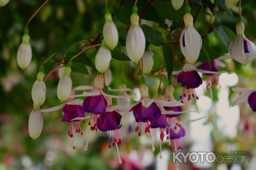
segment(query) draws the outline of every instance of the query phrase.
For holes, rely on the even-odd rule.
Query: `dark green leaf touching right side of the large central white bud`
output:
[[[141,28],[144,32],[145,38],[146,40],[155,46],[162,46],[162,41],[163,39],[163,35],[161,34],[161,32],[157,31],[157,30],[153,30],[150,26],[148,25],[141,25]]]

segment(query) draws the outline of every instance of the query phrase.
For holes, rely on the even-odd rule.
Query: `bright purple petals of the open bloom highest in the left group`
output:
[[[107,101],[104,96],[88,96],[83,101],[83,110],[85,112],[97,112],[104,114],[106,111]]]

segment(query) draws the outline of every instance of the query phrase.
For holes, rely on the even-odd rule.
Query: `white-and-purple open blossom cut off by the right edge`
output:
[[[232,103],[232,106],[248,101],[253,112],[256,112],[256,88],[233,88],[233,92],[242,93]]]

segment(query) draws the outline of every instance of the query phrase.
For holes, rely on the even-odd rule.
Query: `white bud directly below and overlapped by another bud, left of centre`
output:
[[[104,41],[104,40],[102,40],[102,41]],[[110,52],[109,48],[102,45],[99,48],[99,50],[97,51],[97,54],[95,57],[96,69],[101,73],[105,72],[109,67],[111,58],[112,58],[112,56],[111,56],[111,52]]]

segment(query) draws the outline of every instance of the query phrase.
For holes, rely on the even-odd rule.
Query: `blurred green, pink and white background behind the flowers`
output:
[[[61,122],[61,111],[43,113],[44,127],[40,137],[33,140],[29,136],[28,117],[33,109],[31,88],[36,80],[39,66],[44,61],[42,57],[47,57],[55,48],[67,49],[76,42],[69,50],[77,51],[84,45],[82,40],[99,33],[96,25],[103,26],[104,24],[103,0],[50,1],[29,25],[33,58],[30,66],[22,71],[17,66],[16,53],[21,43],[23,29],[28,18],[43,2],[42,0],[10,0],[9,4],[0,8],[0,169],[175,169],[176,165],[171,161],[172,153],[168,142],[165,141],[162,144],[163,159],[161,160],[159,159],[159,131],[153,130],[156,148],[153,153],[151,152],[150,134],[142,133],[142,136],[138,137],[137,133],[130,131],[132,116],[130,120],[127,120],[127,125],[119,130],[122,139],[122,144],[119,146],[123,161],[121,166],[118,164],[116,149],[113,147],[108,149],[107,133],[91,132],[89,149],[84,151],[89,130],[87,123],[80,123],[84,135],[74,135],[76,148],[73,149],[73,141],[67,134],[69,125]],[[109,6],[112,7],[117,2],[111,0]],[[191,7],[192,14],[195,14],[198,7],[199,5]],[[255,1],[242,1],[245,35],[254,43],[256,42],[255,8]],[[221,19],[230,41],[236,35],[237,11],[238,7],[234,7],[231,12],[219,10],[216,14]],[[204,6],[195,23],[201,35],[207,33],[210,16],[209,8]],[[117,27],[127,29],[126,25],[118,21],[115,16],[113,21]],[[145,20],[142,22],[159,30],[165,39],[168,36],[168,30],[157,28],[159,23]],[[172,25],[172,21],[169,20],[165,20],[165,23],[168,27]],[[227,54],[225,44],[215,31],[211,31],[205,41],[219,55]],[[162,48],[153,45],[150,45],[150,48],[154,53],[153,70],[155,70],[163,63]],[[95,48],[85,53],[92,63],[94,63],[95,53]],[[220,69],[229,73],[219,76],[221,88],[214,87],[213,103],[209,90],[206,90],[206,77],[203,76],[204,82],[197,89],[199,100],[194,101],[191,106],[191,110],[196,111],[192,113],[192,118],[196,119],[206,115],[209,117],[184,125],[186,136],[181,138],[181,142],[185,152],[212,151],[216,155],[221,155],[221,153],[230,155],[230,151],[249,151],[250,163],[242,165],[216,162],[211,164],[186,163],[179,164],[179,169],[255,169],[255,113],[251,111],[247,102],[234,107],[230,105],[237,97],[237,94],[232,93],[232,87],[255,87],[256,62],[253,60],[244,67],[229,59],[225,61],[225,64],[226,66]],[[178,64],[175,65],[176,69],[177,67]],[[128,88],[134,88],[140,82],[140,66],[126,61],[124,68],[124,82]],[[112,59],[110,69],[112,72],[110,87],[118,88],[121,84],[121,61]],[[88,71],[89,75],[73,74],[74,87],[93,86],[97,71],[89,67]],[[46,102],[41,109],[61,104],[56,94],[58,80],[56,71],[46,81]],[[148,76],[147,85],[150,88],[150,97],[156,96],[158,84],[159,76]],[[163,91],[167,84],[167,79],[163,77]],[[180,84],[175,83],[176,99],[181,91]],[[111,94],[118,95],[117,92]],[[140,98],[137,88],[133,91],[133,95]],[[131,103],[134,102],[136,101],[132,99]],[[116,104],[116,100],[113,100],[113,103]],[[187,115],[181,116],[180,120],[187,120]]]

